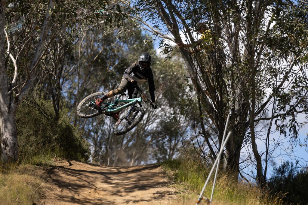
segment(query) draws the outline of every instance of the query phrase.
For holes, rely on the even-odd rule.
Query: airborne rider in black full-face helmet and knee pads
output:
[[[115,95],[122,94],[126,91],[126,89],[128,90],[129,99],[136,98],[138,90],[135,88],[134,85],[137,85],[137,83],[143,83],[148,80],[149,91],[153,103],[152,107],[153,109],[156,109],[157,105],[155,104],[154,94],[155,86],[152,69],[150,67],[151,63],[151,55],[149,53],[142,52],[139,56],[138,61],[133,63],[125,70],[119,87],[117,89],[109,91],[106,95],[103,95],[102,98],[98,98],[95,100],[96,107],[100,108],[100,105],[104,100]],[[113,117],[115,119],[119,119],[118,113],[115,113]]]

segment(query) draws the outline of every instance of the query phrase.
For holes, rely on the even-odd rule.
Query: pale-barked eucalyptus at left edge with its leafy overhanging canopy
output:
[[[38,68],[45,69],[54,76],[52,94],[55,96],[53,99],[57,112],[63,66],[45,65],[52,57],[61,56],[59,51],[63,53],[63,48],[69,48],[83,31],[93,29],[98,22],[112,26],[117,20],[123,19],[121,14],[117,14],[114,20],[114,16],[101,13],[101,8],[106,9],[106,2],[1,1],[0,130],[3,161],[18,159],[15,113],[33,87],[34,81],[38,81],[35,79],[39,73]],[[62,38],[68,36],[69,39],[66,40],[70,42],[63,42]],[[49,47],[55,42],[53,40],[59,43],[56,52]],[[47,59],[48,56],[52,57]],[[63,65],[63,61],[61,64]]]

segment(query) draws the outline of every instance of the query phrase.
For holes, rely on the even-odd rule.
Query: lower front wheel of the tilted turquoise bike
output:
[[[126,115],[120,120],[118,120],[113,126],[113,134],[123,135],[126,132],[134,128],[144,116],[144,109],[135,107],[131,113],[126,117]]]

